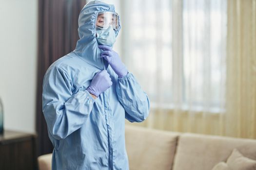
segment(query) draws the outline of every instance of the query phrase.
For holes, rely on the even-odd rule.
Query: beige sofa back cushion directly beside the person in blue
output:
[[[171,170],[178,133],[125,125],[130,170]]]

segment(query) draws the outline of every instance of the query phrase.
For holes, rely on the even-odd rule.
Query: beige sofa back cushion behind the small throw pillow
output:
[[[256,140],[181,134],[173,170],[211,170],[218,162],[226,162],[235,148],[244,156],[256,159]]]

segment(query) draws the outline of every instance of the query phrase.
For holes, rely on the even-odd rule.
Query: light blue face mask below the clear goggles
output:
[[[116,33],[112,27],[112,25],[109,25],[108,28],[103,29],[97,29],[97,41],[99,45],[107,45],[107,46],[113,46],[113,44],[116,42]]]

